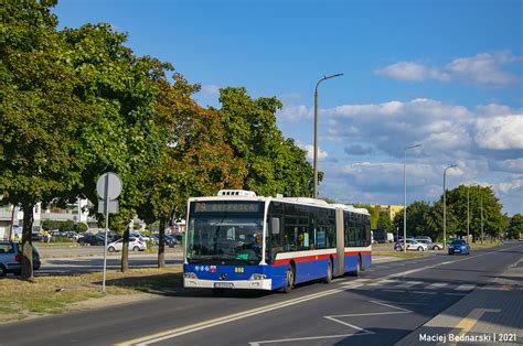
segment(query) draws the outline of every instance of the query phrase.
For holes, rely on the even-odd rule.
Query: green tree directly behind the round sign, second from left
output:
[[[110,215],[110,228],[124,234],[121,270],[128,269],[128,225],[142,203],[140,182],[160,162],[170,140],[172,115],[160,111],[170,64],[137,57],[126,35],[107,24],[86,24],[62,31],[67,62],[79,80],[74,96],[83,107],[75,138],[85,169],[77,174],[83,185],[71,197],[86,196],[97,206],[96,181],[104,172],[122,180],[119,209]]]

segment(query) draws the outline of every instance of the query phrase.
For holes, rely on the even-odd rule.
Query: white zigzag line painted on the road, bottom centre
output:
[[[346,314],[346,315],[331,315],[331,316],[323,316],[324,318],[345,325],[350,328],[356,329],[357,334],[343,334],[343,335],[320,335],[320,336],[306,336],[306,337],[295,337],[295,338],[281,338],[281,339],[274,339],[274,340],[263,340],[263,342],[252,342],[249,343],[250,346],[259,346],[262,344],[281,344],[281,343],[291,343],[291,342],[305,342],[305,340],[317,340],[317,339],[331,339],[331,338],[341,338],[341,337],[349,337],[349,336],[361,336],[361,335],[372,335],[376,334],[372,331],[364,329],[356,325],[350,324],[345,321],[341,321],[339,318],[343,317],[359,317],[359,316],[375,316],[375,315],[397,315],[397,314],[408,314],[412,313],[410,310],[406,310],[399,306],[394,306],[391,304],[386,304],[380,301],[371,301],[371,303],[387,306],[394,309],[396,311],[388,311],[388,312],[376,312],[376,313],[364,313],[364,314]]]

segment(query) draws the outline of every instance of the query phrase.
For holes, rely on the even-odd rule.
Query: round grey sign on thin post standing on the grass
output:
[[[118,198],[121,193],[121,179],[115,173],[107,172],[102,174],[96,182],[96,192],[102,198],[98,201],[98,213],[105,214],[105,245],[104,245],[104,280],[102,290],[105,292],[105,278],[107,272],[107,233],[109,230],[109,213],[118,212]]]

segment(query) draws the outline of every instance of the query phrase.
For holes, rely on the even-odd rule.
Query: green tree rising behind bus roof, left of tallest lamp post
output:
[[[243,187],[266,196],[311,196],[313,170],[306,152],[276,127],[281,102],[275,97],[252,99],[245,88],[221,89],[220,101],[225,141],[246,162]]]

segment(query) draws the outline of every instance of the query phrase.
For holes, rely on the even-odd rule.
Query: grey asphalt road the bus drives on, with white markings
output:
[[[468,257],[375,263],[361,278],[290,294],[169,290],[158,299],[0,325],[0,345],[392,345],[523,258],[523,245]]]

